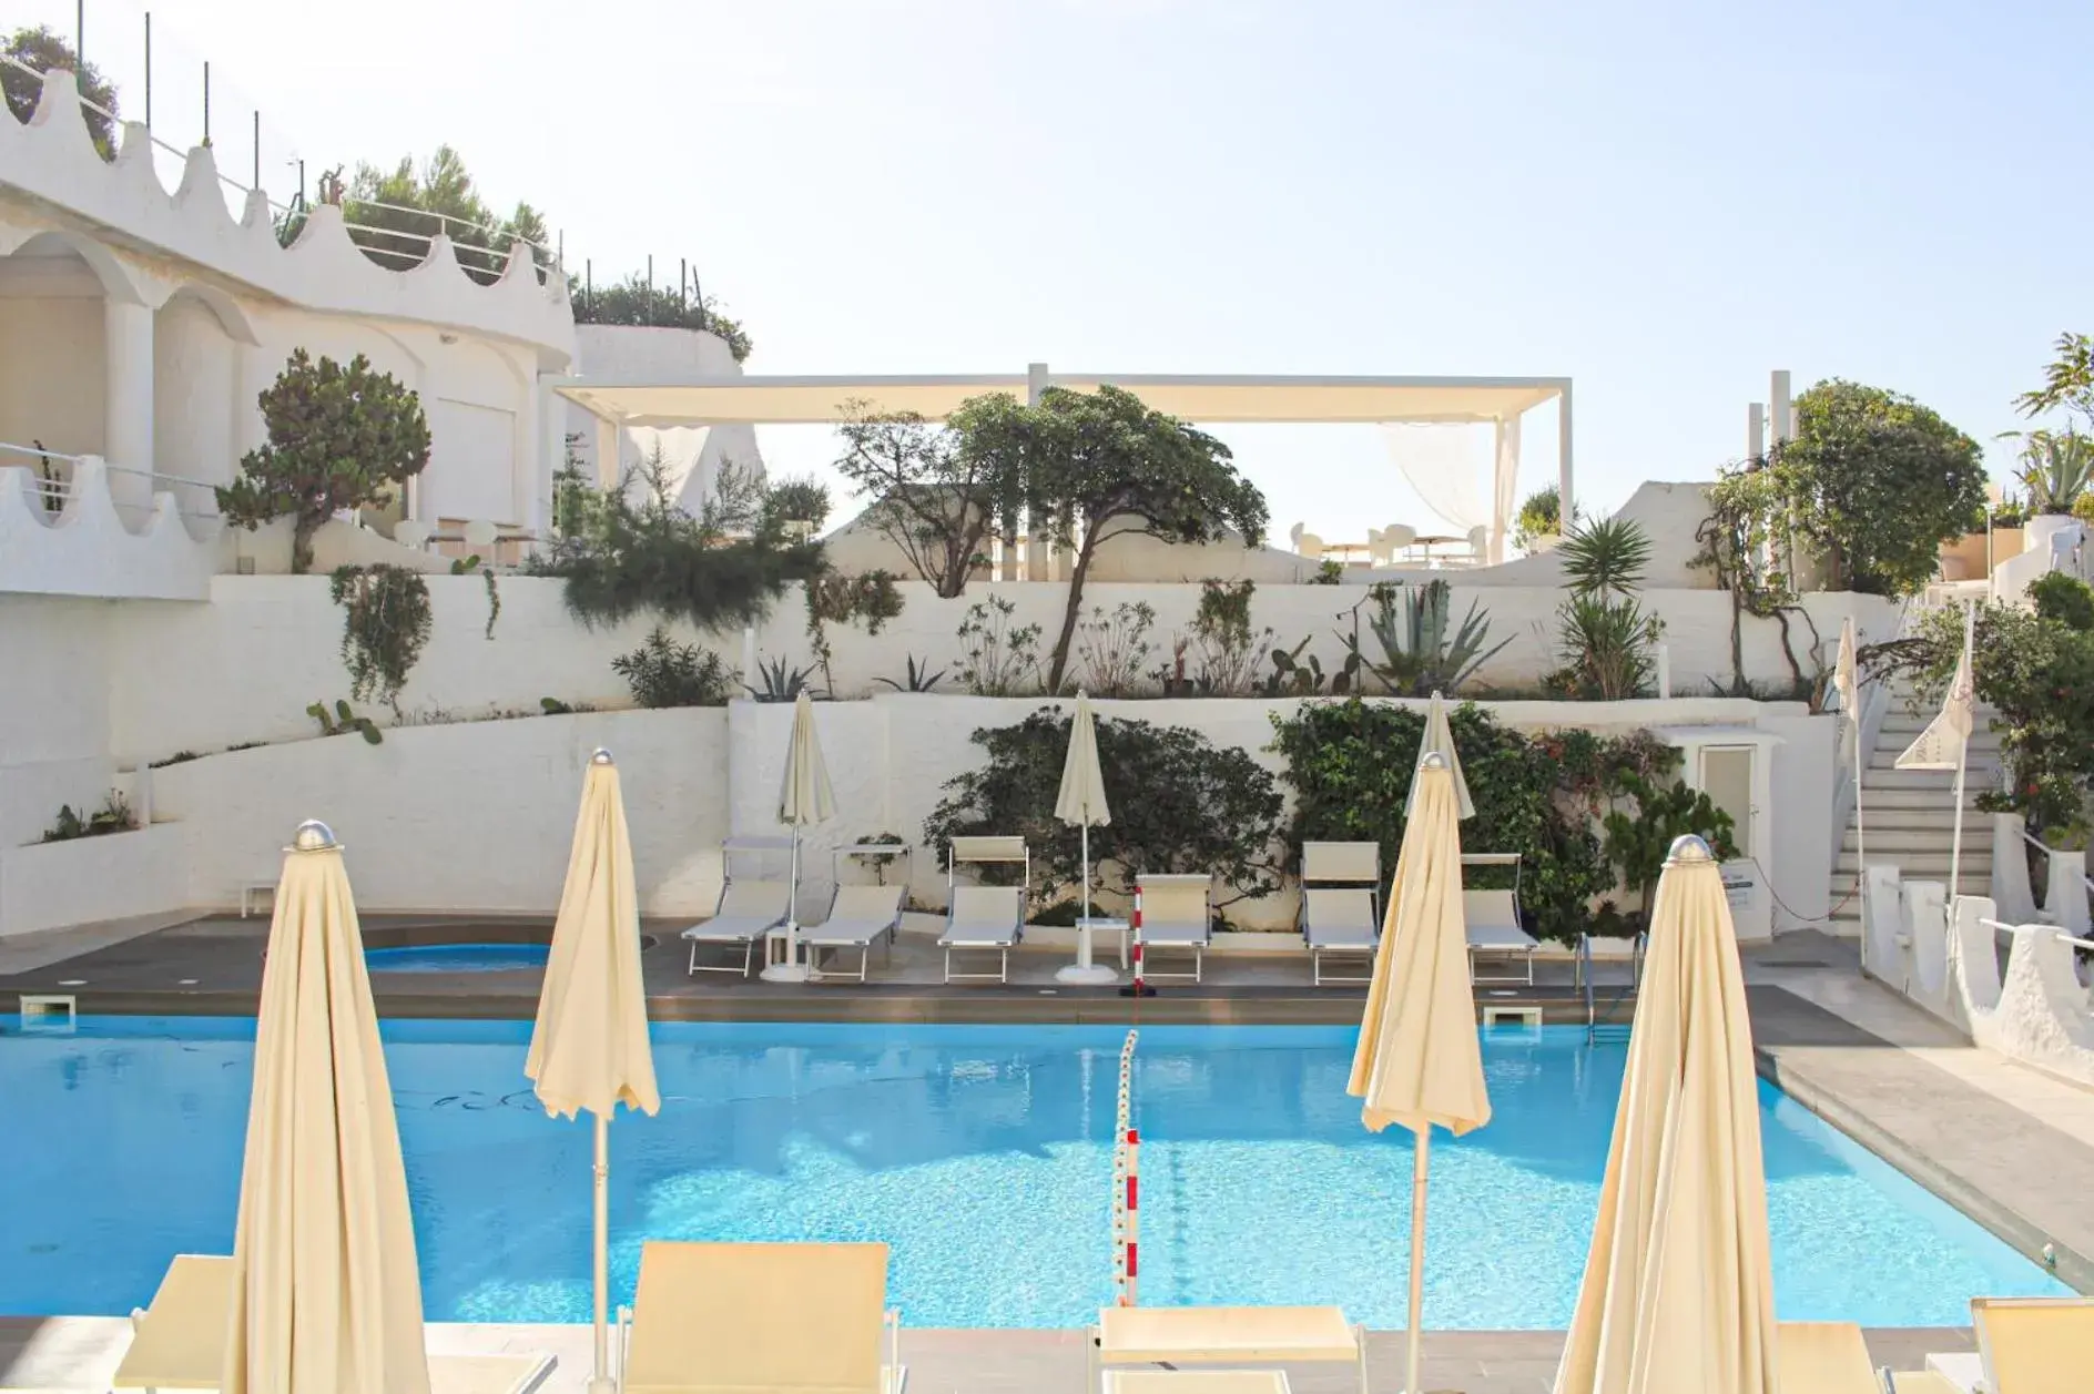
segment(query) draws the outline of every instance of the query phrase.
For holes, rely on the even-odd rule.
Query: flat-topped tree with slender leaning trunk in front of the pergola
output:
[[[1072,548],[1062,634],[1047,664],[1047,691],[1062,691],[1068,649],[1083,613],[1083,582],[1097,548],[1129,534],[1164,542],[1217,542],[1229,532],[1265,540],[1265,496],[1206,431],[1152,410],[1131,391],[1049,387],[1039,406],[978,398],[953,419],[959,450],[990,477],[1022,484],[1034,534]]]

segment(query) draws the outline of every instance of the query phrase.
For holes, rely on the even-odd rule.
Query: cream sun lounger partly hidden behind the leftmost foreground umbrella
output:
[[[232,1260],[178,1254],[153,1294],[132,1312],[132,1344],[111,1379],[117,1390],[216,1390],[224,1384]],[[530,1394],[553,1373],[553,1356],[429,1356],[431,1394]]]

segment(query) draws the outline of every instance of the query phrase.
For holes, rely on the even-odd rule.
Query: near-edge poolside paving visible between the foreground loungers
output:
[[[0,1390],[107,1390],[130,1342],[117,1317],[52,1321],[0,1319]],[[540,1394],[582,1394],[588,1384],[588,1327],[431,1325],[429,1350],[492,1354],[542,1350],[559,1363]],[[1556,1379],[1562,1331],[1426,1331],[1426,1390],[1462,1394],[1547,1394]],[[1922,1369],[1935,1352],[1973,1350],[1962,1327],[1868,1331],[1878,1365]],[[1367,1335],[1374,1394],[1403,1386],[1401,1331]],[[1076,1394],[1085,1388],[1083,1331],[903,1331],[909,1388],[921,1394]],[[1300,1365],[1288,1371],[1296,1394],[1355,1394],[1349,1367]]]

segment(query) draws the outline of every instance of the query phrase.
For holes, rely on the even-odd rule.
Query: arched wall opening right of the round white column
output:
[[[153,465],[193,532],[214,525],[211,486],[239,473],[241,341],[253,341],[222,291],[184,285],[153,316]]]

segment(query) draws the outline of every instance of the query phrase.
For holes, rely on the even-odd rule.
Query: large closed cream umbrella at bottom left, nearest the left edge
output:
[[[421,1275],[341,846],[285,850],[255,1011],[226,1394],[427,1394]]]

